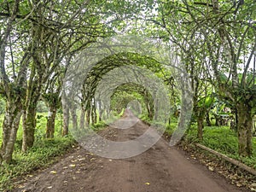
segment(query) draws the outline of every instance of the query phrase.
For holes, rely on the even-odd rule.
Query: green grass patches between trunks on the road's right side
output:
[[[141,118],[144,122],[150,124],[152,121],[147,118],[146,115],[142,115]],[[177,118],[172,118],[170,124],[166,125],[166,131],[164,137],[168,142],[172,133],[177,129]],[[204,125],[203,140],[200,140],[197,136],[197,125],[190,125],[186,131],[182,143],[185,145],[201,143],[207,148],[212,148],[221,154],[225,154],[234,160],[239,160],[247,166],[256,169],[256,137],[253,137],[253,154],[251,157],[243,157],[238,154],[238,139],[237,132],[230,129],[229,125]]]

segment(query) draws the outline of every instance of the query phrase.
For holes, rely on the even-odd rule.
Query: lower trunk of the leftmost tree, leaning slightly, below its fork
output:
[[[21,103],[6,103],[3,119],[3,142],[0,149],[0,162],[10,163],[15,148],[21,116]]]

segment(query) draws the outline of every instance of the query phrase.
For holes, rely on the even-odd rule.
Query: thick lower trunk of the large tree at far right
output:
[[[237,103],[238,153],[251,156],[253,153],[253,115],[245,103]]]

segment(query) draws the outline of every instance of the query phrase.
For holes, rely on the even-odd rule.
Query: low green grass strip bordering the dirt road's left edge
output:
[[[12,164],[0,167],[0,191],[12,188],[12,178],[49,166],[74,143],[72,137],[56,137],[38,140],[25,154],[20,149],[15,149]]]

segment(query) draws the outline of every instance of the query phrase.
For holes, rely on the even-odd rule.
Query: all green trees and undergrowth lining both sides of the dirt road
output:
[[[188,143],[255,168],[255,9],[254,0],[1,1],[0,190],[65,154],[71,129],[100,131],[125,108],[148,123],[172,111],[159,122],[170,137],[191,106]],[[105,52],[94,51],[104,39]],[[88,67],[84,49],[107,56]]]

